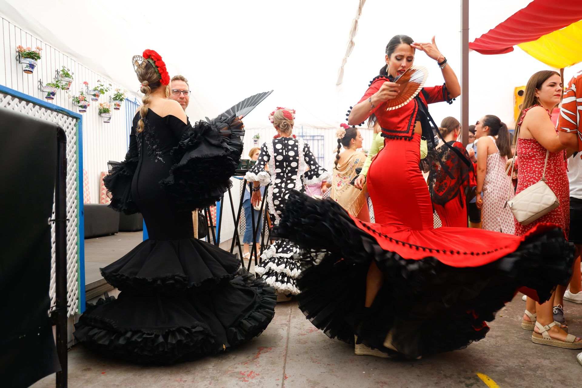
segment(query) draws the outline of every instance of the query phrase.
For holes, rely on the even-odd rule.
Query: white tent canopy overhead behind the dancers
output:
[[[460,75],[460,2],[419,0],[407,6],[368,0],[343,83],[336,87],[359,3],[0,0],[0,14],[131,91],[139,82],[130,59],[145,48],[155,49],[171,75],[189,79],[193,97],[187,113],[193,120],[215,116],[248,95],[274,89],[247,116],[247,129],[270,127],[267,113],[275,106],[296,109],[296,125],[333,128],[378,74],[385,45],[395,34],[418,41],[436,35],[439,48]],[[470,40],[527,3],[471,2]],[[434,61],[421,52],[416,58],[415,63],[430,72],[427,85],[442,84]],[[513,88],[526,84],[541,69],[548,67],[521,50],[489,56],[471,52],[470,120],[494,114],[511,125]],[[566,69],[566,81],[574,70]],[[459,118],[459,101],[431,106],[431,113],[437,122],[445,116]]]

